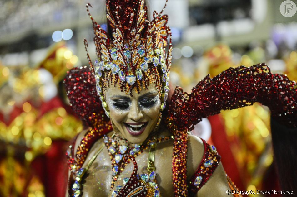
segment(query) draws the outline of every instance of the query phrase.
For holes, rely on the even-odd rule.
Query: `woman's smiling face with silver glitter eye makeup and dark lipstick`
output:
[[[110,111],[113,129],[133,144],[142,143],[152,132],[160,112],[159,93],[155,84],[132,95],[121,92],[118,85],[110,85],[105,100]],[[116,127],[116,128],[115,128]]]

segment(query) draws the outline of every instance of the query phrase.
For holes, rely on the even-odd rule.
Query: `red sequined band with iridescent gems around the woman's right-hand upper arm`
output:
[[[204,156],[195,174],[189,181],[189,196],[192,196],[208,181],[214,170],[218,167],[221,156],[213,145],[209,145],[203,140]]]

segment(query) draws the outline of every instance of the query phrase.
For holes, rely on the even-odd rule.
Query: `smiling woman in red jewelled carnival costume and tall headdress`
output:
[[[295,82],[265,64],[242,66],[207,76],[191,94],[177,87],[167,101],[172,44],[164,9],[149,22],[144,0],[107,0],[106,7],[109,34],[88,12],[98,59],[93,66],[87,54],[90,68],[65,79],[89,127],[67,152],[68,195],[240,196],[215,147],[188,131],[201,118],[254,102],[278,103],[272,114],[295,126]]]

